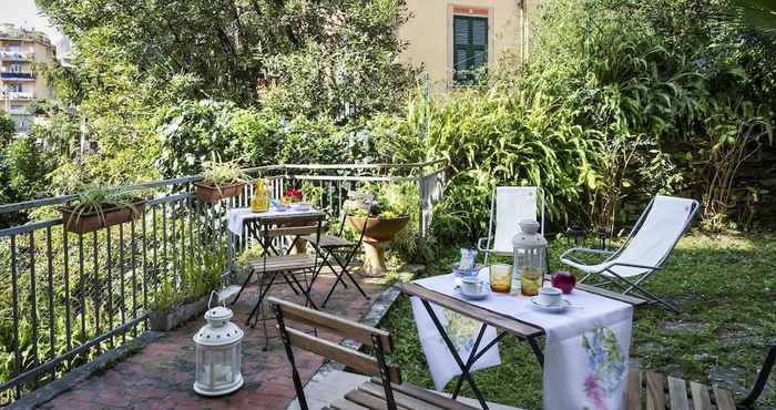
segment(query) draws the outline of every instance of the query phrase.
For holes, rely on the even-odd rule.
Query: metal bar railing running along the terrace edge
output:
[[[409,183],[417,187],[417,227],[425,235],[441,197],[440,162],[404,165],[285,165],[247,170],[270,182],[275,197],[306,184],[317,207],[338,215],[347,192],[363,184]],[[54,217],[0,229],[0,403],[52,381],[146,329],[160,289],[183,289],[193,266],[216,256],[222,281],[232,280],[226,212],[248,206],[254,187],[205,204],[181,177],[137,185],[153,189],[135,221],[89,234],[63,229]],[[19,213],[59,206],[73,196],[0,205],[0,222]],[[229,240],[231,242],[231,240]],[[249,246],[243,236],[233,245]],[[232,247],[228,247],[232,249]],[[207,256],[205,256],[207,254]],[[221,270],[218,270],[221,271]]]

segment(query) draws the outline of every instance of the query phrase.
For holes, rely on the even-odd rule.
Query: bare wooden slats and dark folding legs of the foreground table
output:
[[[474,383],[473,378],[471,377],[471,369],[472,366],[480,359],[482,356],[492,347],[497,346],[498,341],[503,339],[507,335],[512,335],[517,337],[520,340],[524,340],[529,344],[531,347],[533,353],[537,357],[537,360],[539,361],[540,366],[544,366],[544,353],[542,352],[542,349],[539,347],[539,344],[537,339],[541,336],[545,335],[545,331],[532,324],[529,324],[524,320],[518,319],[515,317],[506,315],[506,314],[500,314],[490,309],[482,308],[480,306],[477,306],[468,300],[464,300],[462,298],[457,298],[452,297],[450,295],[431,290],[427,287],[423,287],[418,284],[413,283],[406,283],[406,284],[400,284],[398,287],[404,291],[405,294],[409,296],[417,297],[420,299],[423,308],[430,316],[431,320],[433,321],[433,325],[441,336],[441,338],[445,341],[445,345],[448,348],[448,351],[452,356],[453,360],[460,368],[461,375],[460,378],[458,379],[458,383],[456,385],[456,388],[453,390],[452,397],[453,399],[458,397],[460,393],[460,389],[462,387],[463,381],[471,387],[471,390],[474,392],[474,396],[477,397],[477,400],[480,402],[480,406],[483,409],[488,409],[488,404],[482,397],[482,393],[478,389],[477,385]],[[595,294],[599,296],[603,296],[606,298],[611,298],[614,300],[623,301],[633,306],[639,306],[643,305],[646,303],[643,299],[631,297],[631,296],[624,296],[621,294],[607,291],[604,289],[600,289],[596,287],[592,286],[585,286],[585,285],[580,285],[576,287],[578,289]],[[435,312],[435,310],[431,307],[431,304],[435,304],[439,307],[442,307],[445,309],[452,310],[457,314],[460,314],[462,316],[466,316],[471,319],[476,319],[478,321],[481,321],[482,325],[480,326],[477,339],[474,340],[473,347],[470,349],[470,355],[466,360],[461,358],[461,356],[458,353],[458,350],[456,349],[456,346],[453,345],[452,340],[450,339],[450,336],[445,329],[445,326],[442,326],[439,317]],[[486,332],[486,328],[488,326],[491,326],[498,330],[498,335],[496,338],[493,338],[490,342],[488,342],[484,347],[480,348],[480,344],[482,342],[483,335]]]

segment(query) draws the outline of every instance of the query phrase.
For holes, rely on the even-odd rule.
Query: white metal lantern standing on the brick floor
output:
[[[232,310],[225,306],[210,308],[205,312],[207,325],[194,335],[194,391],[200,394],[228,394],[243,386],[241,341],[244,332],[229,321],[232,316]]]

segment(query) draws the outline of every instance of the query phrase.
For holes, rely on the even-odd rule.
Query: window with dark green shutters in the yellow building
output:
[[[452,19],[453,81],[473,84],[488,64],[488,18],[455,16]]]

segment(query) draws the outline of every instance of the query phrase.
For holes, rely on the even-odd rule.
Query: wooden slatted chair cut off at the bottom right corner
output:
[[[776,345],[770,348],[755,387],[741,403],[719,387],[705,385],[661,373],[631,368],[625,387],[625,410],[753,410],[763,393],[770,370],[776,361]]]

